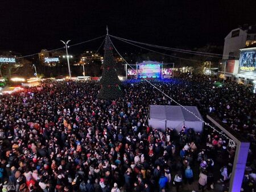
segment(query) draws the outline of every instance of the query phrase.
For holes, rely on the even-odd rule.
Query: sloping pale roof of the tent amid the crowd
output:
[[[201,114],[196,106],[184,106],[189,111],[202,119]],[[150,105],[150,119],[159,120],[180,120],[198,122],[200,121],[194,115],[186,111],[180,106],[166,106],[166,105]]]

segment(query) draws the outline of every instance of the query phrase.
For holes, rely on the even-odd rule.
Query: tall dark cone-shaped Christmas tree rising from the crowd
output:
[[[121,97],[122,90],[119,86],[121,81],[119,80],[117,71],[115,70],[113,47],[108,34],[106,35],[104,50],[104,61],[102,64],[102,76],[100,80],[101,89],[98,94],[98,98],[113,100]]]

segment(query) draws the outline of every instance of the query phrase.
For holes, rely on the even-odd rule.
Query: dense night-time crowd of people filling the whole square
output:
[[[253,191],[255,94],[214,81],[193,76],[152,84],[250,141],[242,190]],[[98,90],[93,81],[48,81],[0,96],[2,191],[217,191],[216,183],[226,190],[235,149],[225,137],[208,126],[203,136],[185,124],[180,132],[149,127],[149,105],[175,103],[145,81],[124,81],[114,101],[98,100]]]

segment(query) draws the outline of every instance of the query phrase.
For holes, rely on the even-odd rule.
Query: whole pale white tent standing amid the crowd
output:
[[[201,114],[196,106],[184,106],[193,112],[200,119]],[[187,128],[193,128],[196,132],[202,132],[204,123],[194,115],[180,106],[150,105],[150,118],[148,124],[152,128],[165,131],[166,128],[174,128],[180,131],[185,125]]]

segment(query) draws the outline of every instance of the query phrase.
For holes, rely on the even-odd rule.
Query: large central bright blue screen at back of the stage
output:
[[[138,65],[138,78],[160,78],[161,64]]]

